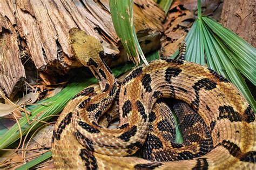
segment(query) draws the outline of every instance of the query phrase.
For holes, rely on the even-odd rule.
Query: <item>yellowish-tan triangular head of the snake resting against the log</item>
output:
[[[87,35],[85,31],[78,28],[69,30],[69,45],[72,53],[84,66],[98,63],[99,53],[104,51],[98,39]]]

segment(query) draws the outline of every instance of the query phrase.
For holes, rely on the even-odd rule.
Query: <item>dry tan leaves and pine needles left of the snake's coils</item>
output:
[[[31,90],[28,90],[27,86],[30,87]],[[22,138],[21,134],[21,127],[19,126],[18,119],[22,118],[22,112],[25,114],[25,116],[28,119],[28,123],[31,124],[33,121],[36,121],[36,119],[32,120],[32,122],[29,122],[29,115],[30,112],[26,111],[27,105],[33,105],[38,98],[40,93],[42,92],[42,87],[39,87],[40,91],[38,92],[38,88],[34,88],[28,83],[25,83],[25,89],[26,92],[29,91],[29,93],[24,94],[23,97],[18,99],[15,103],[9,100],[7,97],[4,96],[4,94],[0,91],[0,95],[4,99],[5,103],[0,103],[0,119],[2,126],[1,128],[11,128],[12,125],[17,123],[19,127],[20,132],[20,140],[17,141],[17,148],[15,149],[2,149],[3,152],[0,158],[0,168],[6,168],[6,169],[15,169],[16,167],[21,166],[24,164],[24,160],[30,161],[34,158],[37,158],[39,155],[42,155],[43,153],[47,152],[50,147],[50,138],[51,135],[49,135],[49,131],[52,131],[53,125],[50,125],[49,127],[46,126],[43,128],[42,132],[39,131],[39,136],[35,135],[35,140],[30,138],[28,141]],[[57,88],[55,93],[59,92],[62,89],[62,87]],[[38,105],[38,104],[34,104]],[[15,120],[15,121],[13,121]],[[46,123],[46,125],[49,125],[49,123]],[[1,129],[2,130],[2,129]],[[38,128],[40,130],[40,128]],[[45,130],[48,130],[47,132],[44,132]],[[3,133],[4,134],[4,133]],[[0,135],[3,135],[2,133]],[[43,137],[44,136],[44,137]],[[0,136],[1,137],[1,136]],[[26,136],[27,137],[27,136]],[[41,142],[39,139],[43,139]],[[22,144],[23,141],[23,144]],[[45,145],[46,144],[46,145]],[[20,146],[22,145],[22,148]],[[24,149],[25,146],[25,149]],[[26,151],[24,154],[24,151]]]

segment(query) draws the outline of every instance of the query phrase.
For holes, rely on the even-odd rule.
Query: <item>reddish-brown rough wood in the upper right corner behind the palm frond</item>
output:
[[[256,47],[255,13],[255,0],[227,0],[220,23]]]

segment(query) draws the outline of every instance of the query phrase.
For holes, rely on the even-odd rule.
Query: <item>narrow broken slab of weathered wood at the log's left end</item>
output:
[[[25,80],[25,70],[19,59],[18,35],[10,21],[3,19],[2,15],[0,17],[0,90],[3,94],[9,92],[12,98]]]

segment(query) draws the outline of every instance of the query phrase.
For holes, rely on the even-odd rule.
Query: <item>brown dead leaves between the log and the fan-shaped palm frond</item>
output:
[[[203,1],[202,12],[215,20],[220,19],[223,1]],[[197,19],[197,0],[178,0],[171,5],[164,23],[164,38],[161,39],[163,56],[169,57],[179,49],[193,22]]]

